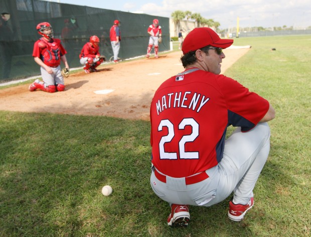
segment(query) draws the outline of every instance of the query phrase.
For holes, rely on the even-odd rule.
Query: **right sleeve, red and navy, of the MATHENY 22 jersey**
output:
[[[255,127],[269,109],[269,102],[237,81],[222,76],[218,81],[228,108],[228,126],[246,132]]]

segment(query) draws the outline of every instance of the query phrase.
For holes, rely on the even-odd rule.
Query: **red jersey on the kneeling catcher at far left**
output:
[[[49,67],[57,67],[61,64],[61,56],[67,52],[59,39],[47,41],[44,37],[34,44],[33,57],[38,57]]]

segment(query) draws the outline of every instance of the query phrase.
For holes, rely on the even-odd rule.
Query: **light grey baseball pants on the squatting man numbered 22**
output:
[[[259,123],[248,132],[241,132],[238,127],[225,141],[221,162],[206,170],[207,179],[186,185],[185,178],[167,176],[164,183],[154,175],[152,166],[150,184],[154,193],[170,204],[211,206],[227,198],[232,191],[234,203],[246,204],[253,196],[253,188],[269,150],[267,123]]]

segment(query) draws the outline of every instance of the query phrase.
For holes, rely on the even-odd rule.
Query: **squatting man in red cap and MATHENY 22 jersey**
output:
[[[254,204],[253,188],[269,154],[275,117],[269,102],[220,75],[233,43],[210,28],[185,38],[184,72],[165,81],[150,107],[150,184],[171,205],[170,226],[187,226],[189,207],[211,206],[233,192],[228,217],[243,219]],[[228,139],[228,126],[237,127]]]

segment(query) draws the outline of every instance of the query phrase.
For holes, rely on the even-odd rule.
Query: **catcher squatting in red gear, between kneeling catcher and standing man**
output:
[[[97,36],[91,36],[90,42],[87,42],[79,55],[80,63],[84,66],[85,73],[98,72],[96,69],[103,60],[100,59],[99,54],[99,38]]]

